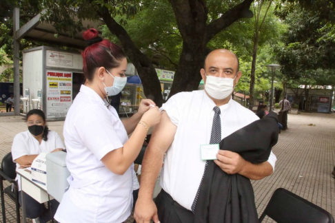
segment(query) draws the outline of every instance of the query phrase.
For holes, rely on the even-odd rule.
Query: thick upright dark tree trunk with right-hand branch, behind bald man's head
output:
[[[205,56],[210,52],[207,43],[217,33],[241,19],[245,10],[254,0],[244,0],[225,12],[219,19],[207,25],[207,6],[201,0],[170,0],[176,16],[179,32],[183,38],[183,50],[169,98],[179,92],[198,89],[201,81],[200,70]]]

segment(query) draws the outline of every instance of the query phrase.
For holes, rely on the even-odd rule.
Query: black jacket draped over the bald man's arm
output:
[[[277,115],[271,112],[221,140],[220,149],[234,151],[254,164],[265,162],[278,141],[277,123]],[[258,222],[250,179],[227,174],[209,161],[194,210],[194,222]]]

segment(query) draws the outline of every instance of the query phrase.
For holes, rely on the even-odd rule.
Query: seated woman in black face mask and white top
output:
[[[27,114],[26,121],[28,131],[17,134],[12,144],[13,162],[17,162],[17,168],[30,167],[32,161],[39,153],[61,151],[65,148],[59,134],[48,129],[43,111],[39,109],[30,110]],[[18,180],[19,183],[19,202],[22,206],[20,178],[17,176],[16,180]],[[45,208],[44,204],[40,204],[24,192],[23,195],[25,196],[26,216],[32,218],[32,222],[44,223],[52,219],[59,206],[57,200],[50,201],[52,209],[51,216],[50,211]]]

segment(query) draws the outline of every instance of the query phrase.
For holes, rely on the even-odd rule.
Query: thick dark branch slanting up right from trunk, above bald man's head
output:
[[[223,14],[219,19],[216,19],[212,21],[212,23],[208,24],[205,41],[208,43],[213,36],[218,34],[221,30],[224,30],[228,26],[232,25],[232,23],[238,19],[243,18],[243,12],[250,8],[253,1],[254,0],[245,0],[242,3],[239,3],[237,6],[234,6],[234,8],[225,12],[225,14]]]

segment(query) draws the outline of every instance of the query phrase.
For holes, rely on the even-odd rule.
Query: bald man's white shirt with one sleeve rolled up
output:
[[[177,126],[174,141],[165,155],[161,187],[188,210],[191,210],[205,170],[200,145],[210,144],[215,106],[201,90],[176,94],[161,108]],[[220,109],[222,138],[258,120],[254,112],[232,99]],[[274,167],[276,156],[271,153],[267,161]]]

